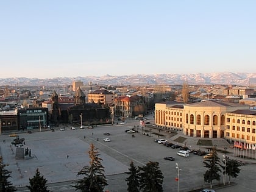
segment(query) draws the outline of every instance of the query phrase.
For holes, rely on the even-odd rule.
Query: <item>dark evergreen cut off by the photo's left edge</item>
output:
[[[16,191],[16,188],[12,186],[12,182],[9,182],[8,179],[11,177],[11,171],[4,169],[7,164],[3,163],[2,156],[0,156],[0,191],[2,192],[12,192]]]

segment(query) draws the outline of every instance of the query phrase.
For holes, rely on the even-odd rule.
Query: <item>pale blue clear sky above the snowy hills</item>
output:
[[[256,1],[0,1],[0,78],[255,73]]]

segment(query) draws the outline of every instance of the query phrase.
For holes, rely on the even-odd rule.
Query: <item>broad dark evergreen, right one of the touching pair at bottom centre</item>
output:
[[[140,190],[143,192],[162,192],[163,173],[158,162],[149,162],[140,169]]]

